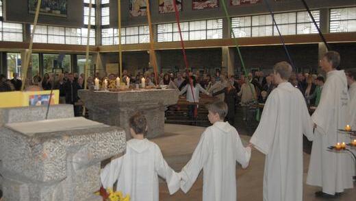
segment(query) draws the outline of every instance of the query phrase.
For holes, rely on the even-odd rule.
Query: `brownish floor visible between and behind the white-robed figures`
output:
[[[204,128],[166,124],[163,137],[153,139],[157,143],[166,158],[170,167],[173,167],[177,172],[186,165],[190,160],[190,156],[194,151],[199,137]],[[246,129],[239,129],[242,141],[249,141],[251,133]],[[244,135],[242,135],[244,134]],[[304,154],[304,178],[307,174],[309,164],[309,154]],[[238,200],[262,201],[262,180],[264,174],[264,155],[253,150],[250,166],[247,169],[236,168],[236,176],[238,182]],[[160,200],[201,200],[203,189],[203,178],[199,176],[194,183],[192,189],[187,194],[178,191],[173,196],[170,196],[165,182],[160,182]],[[303,201],[321,201],[325,199],[315,198],[314,192],[318,191],[318,187],[304,185]],[[348,189],[343,196],[338,199],[328,199],[338,201],[355,201],[356,187]],[[288,200],[286,200],[288,201]]]

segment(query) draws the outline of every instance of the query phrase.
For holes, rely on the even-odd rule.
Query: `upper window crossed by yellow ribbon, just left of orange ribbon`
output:
[[[101,29],[102,45],[118,45],[118,29]],[[149,26],[121,28],[121,44],[149,43]]]

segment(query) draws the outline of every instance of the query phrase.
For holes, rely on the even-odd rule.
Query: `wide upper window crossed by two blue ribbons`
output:
[[[312,14],[319,25],[320,12],[314,10]],[[282,35],[318,33],[308,12],[279,13],[275,14],[275,20]],[[231,25],[233,33],[238,38],[278,35],[270,14],[234,17],[231,19]]]

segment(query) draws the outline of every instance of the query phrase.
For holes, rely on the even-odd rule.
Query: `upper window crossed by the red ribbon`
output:
[[[183,40],[206,40],[223,38],[223,19],[190,21],[180,23]],[[157,41],[179,41],[177,23],[157,25]]]

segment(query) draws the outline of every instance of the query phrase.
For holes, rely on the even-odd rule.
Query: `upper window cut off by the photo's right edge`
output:
[[[330,32],[356,32],[356,7],[331,9]]]

